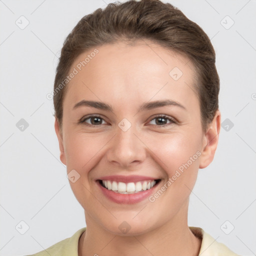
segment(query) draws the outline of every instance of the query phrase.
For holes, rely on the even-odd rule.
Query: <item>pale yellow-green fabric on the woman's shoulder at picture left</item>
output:
[[[65,238],[50,247],[41,250],[35,254],[29,254],[26,256],[77,256],[78,240],[82,233],[85,231],[86,227],[80,228],[72,236]]]

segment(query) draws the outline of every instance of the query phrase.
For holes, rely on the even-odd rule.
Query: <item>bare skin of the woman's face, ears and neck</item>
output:
[[[124,42],[96,47],[99,52],[68,83],[63,100],[63,127],[55,120],[60,159],[67,172],[80,178],[69,181],[84,209],[86,232],[78,243],[78,255],[198,255],[201,240],[187,225],[189,194],[199,168],[213,159],[220,130],[220,112],[203,132],[198,97],[193,88],[194,70],[188,58],[150,41]],[[93,48],[94,49],[94,48]],[[70,67],[93,51],[79,55]],[[178,80],[170,77],[173,67],[182,70]],[[82,99],[102,101],[113,111],[82,106]],[[167,105],[138,112],[147,101],[172,99],[185,109]],[[101,125],[86,119],[100,115]],[[157,115],[165,114],[177,123]],[[127,131],[118,123],[126,118]],[[146,175],[160,178],[159,187],[172,177],[196,151],[201,155],[154,202],[135,204],[107,199],[95,183],[103,175]],[[126,221],[124,234],[118,226]]]

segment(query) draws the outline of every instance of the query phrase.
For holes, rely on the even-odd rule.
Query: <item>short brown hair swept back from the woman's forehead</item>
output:
[[[109,3],[85,15],[66,37],[56,68],[54,91],[66,78],[74,59],[91,47],[118,41],[147,39],[185,54],[196,70],[195,90],[200,101],[201,125],[206,131],[218,109],[219,76],[209,37],[179,9],[160,0]],[[62,127],[66,86],[53,95],[54,116]]]

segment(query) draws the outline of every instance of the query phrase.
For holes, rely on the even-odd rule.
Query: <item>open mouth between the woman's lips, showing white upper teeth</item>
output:
[[[117,182],[117,181],[110,181],[110,180],[101,180],[99,179],[99,184],[108,190],[112,190],[116,193],[121,194],[133,194],[138,193],[141,191],[148,190],[155,186],[160,179],[153,179],[153,180],[141,180],[137,182]]]

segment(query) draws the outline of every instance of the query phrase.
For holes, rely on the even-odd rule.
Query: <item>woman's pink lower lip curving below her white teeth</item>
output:
[[[159,182],[158,182],[153,187],[151,187],[150,189],[147,189],[145,191],[140,191],[140,192],[136,192],[133,194],[121,194],[121,193],[116,193],[112,190],[109,190],[109,189],[101,186],[101,184],[99,183],[99,180],[97,180],[96,183],[98,184],[101,191],[108,199],[110,199],[111,201],[116,202],[116,203],[126,203],[126,204],[134,204],[134,203],[144,200],[145,198],[148,198],[150,196],[150,194],[152,194],[154,192],[155,187],[157,187],[159,184]]]

